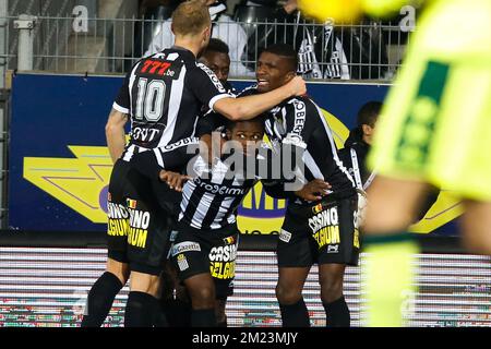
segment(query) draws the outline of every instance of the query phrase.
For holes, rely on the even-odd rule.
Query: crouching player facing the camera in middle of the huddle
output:
[[[271,156],[258,154],[264,135],[261,117],[228,122],[224,132],[227,141],[236,142],[233,151],[224,143],[219,157],[207,163],[197,157],[194,179],[183,186],[177,238],[171,256],[192,302],[192,326],[216,326],[217,317],[226,326],[225,305],[233,291],[239,230],[236,212],[242,198],[260,178],[260,167],[267,167]],[[228,151],[227,151],[228,147]],[[263,154],[267,152],[264,149]],[[243,157],[240,155],[243,154]],[[238,155],[239,158],[232,158]],[[254,166],[247,158],[253,158]],[[239,161],[238,161],[239,159]],[[165,174],[165,171],[164,173]],[[264,183],[267,193],[275,182]],[[312,181],[295,194],[311,198],[313,193],[328,189],[323,181]]]

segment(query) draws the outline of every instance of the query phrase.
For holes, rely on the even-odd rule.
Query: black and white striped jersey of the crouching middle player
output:
[[[193,165],[194,179],[182,190],[179,221],[195,229],[220,229],[236,222],[237,207],[258,178],[246,178],[220,159],[209,166],[201,156]]]

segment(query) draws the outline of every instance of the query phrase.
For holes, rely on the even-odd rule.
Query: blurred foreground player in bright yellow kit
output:
[[[367,12],[381,14],[406,1],[363,2]],[[464,242],[491,254],[489,43],[489,0],[427,1],[369,155],[379,172],[364,221],[371,326],[403,324],[402,292],[414,289],[418,252],[405,231],[429,184],[462,197]]]

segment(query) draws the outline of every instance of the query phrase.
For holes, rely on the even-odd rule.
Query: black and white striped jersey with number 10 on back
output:
[[[143,58],[112,105],[131,120],[122,159],[130,161],[134,154],[192,136],[197,117],[229,96],[216,75],[187,49],[172,47]]]

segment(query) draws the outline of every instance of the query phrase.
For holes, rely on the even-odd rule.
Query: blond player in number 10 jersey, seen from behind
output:
[[[187,1],[177,8],[172,31],[175,46],[140,60],[131,69],[108,118],[106,136],[115,161],[108,193],[108,261],[106,272],[88,293],[82,326],[101,325],[130,273],[124,325],[155,323],[155,297],[173,203],[168,192],[161,193],[157,177],[147,179],[132,164],[134,155],[147,153],[159,166],[178,169],[184,164],[176,161],[184,158],[152,151],[160,146],[167,153],[179,152],[193,142],[196,116],[203,106],[232,120],[250,119],[306,92],[304,82],[297,77],[267,96],[239,100],[228,95],[216,75],[196,62],[211,36],[209,14],[200,1]],[[125,145],[128,119],[132,128]]]

